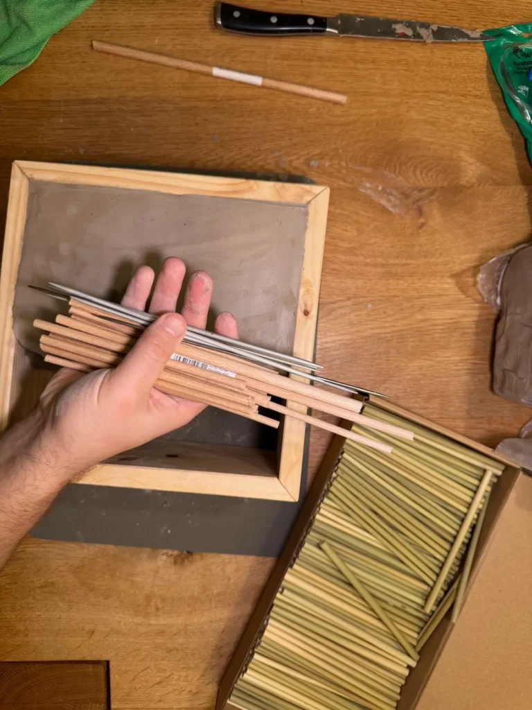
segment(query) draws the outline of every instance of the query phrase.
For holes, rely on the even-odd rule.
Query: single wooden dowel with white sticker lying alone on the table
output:
[[[195,72],[196,74],[206,74],[220,79],[228,79],[235,82],[243,82],[244,84],[253,84],[256,87],[265,89],[274,89],[288,94],[298,94],[309,99],[318,99],[320,101],[328,101],[333,104],[345,104],[348,97],[345,94],[326,91],[324,89],[316,89],[314,87],[306,87],[301,84],[293,84],[292,82],[282,82],[277,79],[267,79],[253,74],[244,74],[243,72],[235,72],[222,67],[213,67],[199,62],[190,62],[185,59],[177,59],[174,57],[166,57],[165,55],[153,54],[131,47],[122,47],[120,45],[108,44],[106,42],[98,42],[93,40],[92,48],[96,52],[104,52],[106,54],[118,55],[127,59],[135,59],[140,62],[150,62],[151,64],[159,64],[171,69],[181,69],[185,72]]]

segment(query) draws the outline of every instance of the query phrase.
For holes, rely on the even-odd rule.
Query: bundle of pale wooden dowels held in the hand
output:
[[[55,323],[35,320],[34,326],[48,334],[41,336],[45,360],[82,372],[117,366],[133,347],[144,326],[126,316],[109,314],[101,308],[74,298],[69,302],[69,316],[57,315]],[[301,377],[305,373],[301,372]],[[279,421],[260,413],[259,408],[321,427],[335,434],[345,430],[307,415],[305,408],[341,417],[350,422],[382,432],[384,435],[413,439],[404,427],[380,422],[360,414],[362,403],[336,392],[310,386],[288,378],[268,366],[240,359],[226,352],[196,344],[182,343],[167,361],[156,383],[163,392],[213,405],[228,412],[277,428]],[[287,400],[284,406],[272,396]],[[293,405],[299,405],[298,408]],[[348,432],[348,438],[365,447],[389,453],[387,442],[377,441],[366,433]]]

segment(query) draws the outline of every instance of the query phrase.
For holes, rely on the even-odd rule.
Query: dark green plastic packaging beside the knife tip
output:
[[[532,23],[486,30],[484,49],[532,161]]]

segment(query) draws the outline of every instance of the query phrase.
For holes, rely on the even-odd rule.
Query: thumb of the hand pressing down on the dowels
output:
[[[148,397],[186,330],[187,323],[179,313],[165,313],[157,318],[111,373],[113,387]]]

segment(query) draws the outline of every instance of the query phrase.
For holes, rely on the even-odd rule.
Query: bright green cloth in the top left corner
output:
[[[29,67],[52,35],[94,0],[0,0],[0,84]]]

